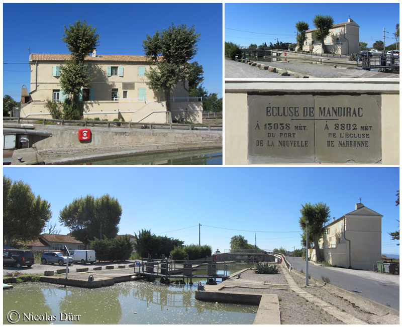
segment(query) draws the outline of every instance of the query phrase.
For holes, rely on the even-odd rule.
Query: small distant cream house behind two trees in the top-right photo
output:
[[[324,53],[320,40],[314,38],[315,31],[317,29],[306,31],[306,41],[303,45],[303,51]],[[359,52],[359,25],[350,18],[345,23],[334,24],[324,43],[326,52],[342,55]]]

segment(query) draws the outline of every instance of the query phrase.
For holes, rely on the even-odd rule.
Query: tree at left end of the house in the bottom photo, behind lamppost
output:
[[[322,261],[319,247],[319,239],[323,236],[325,224],[330,219],[330,208],[323,202],[316,204],[306,203],[300,209],[302,216],[299,218],[299,225],[306,235],[306,221],[309,221],[309,239],[316,248],[317,261]]]

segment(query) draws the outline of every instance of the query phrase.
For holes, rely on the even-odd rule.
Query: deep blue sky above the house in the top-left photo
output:
[[[64,26],[86,20],[100,35],[97,54],[143,55],[142,40],[172,23],[201,34],[192,61],[204,67],[204,87],[222,97],[222,4],[3,4],[3,95],[20,101],[30,90],[31,53],[69,53]]]

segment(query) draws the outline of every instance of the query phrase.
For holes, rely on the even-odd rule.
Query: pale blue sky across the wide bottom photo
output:
[[[230,248],[243,235],[266,250],[302,248],[298,220],[302,204],[325,202],[337,219],[362,203],[383,215],[382,253],[399,254],[399,168],[394,167],[4,167],[51,203],[52,223],[74,198],[109,193],[122,205],[119,234],[142,230]],[[68,230],[58,227],[61,234]]]

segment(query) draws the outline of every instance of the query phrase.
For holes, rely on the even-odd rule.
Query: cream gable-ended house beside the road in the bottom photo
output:
[[[356,209],[335,219],[325,227],[319,251],[333,266],[371,270],[381,260],[382,215],[356,203]],[[316,249],[310,250],[316,261]]]

